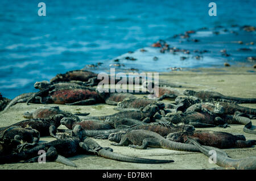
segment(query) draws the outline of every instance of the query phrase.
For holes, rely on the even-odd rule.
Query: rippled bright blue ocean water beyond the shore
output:
[[[38,16],[38,3],[46,16]],[[216,1],[42,0],[0,3],[0,92],[7,98],[36,91],[36,81],[106,62],[176,33],[201,27],[251,24],[256,3]],[[200,66],[200,65],[199,65]]]

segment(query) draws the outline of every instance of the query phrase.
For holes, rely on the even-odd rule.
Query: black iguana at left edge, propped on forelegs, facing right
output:
[[[40,136],[52,136],[56,137],[57,127],[60,126],[60,120],[63,119],[63,115],[55,115],[51,119],[30,119],[20,121],[18,123],[12,124],[9,127],[0,128],[0,132],[5,131],[7,128],[18,126],[26,128],[27,125],[32,129],[39,131]]]

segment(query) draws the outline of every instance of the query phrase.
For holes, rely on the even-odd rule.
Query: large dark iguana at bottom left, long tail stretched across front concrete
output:
[[[79,133],[80,126],[77,125],[76,131]],[[158,160],[158,159],[146,159],[146,158],[136,158],[130,157],[127,155],[122,155],[118,153],[113,153],[113,149],[111,148],[102,148],[100,145],[97,144],[96,141],[93,141],[91,138],[88,137],[79,137],[79,136],[72,136],[66,137],[64,139],[58,139],[55,141],[38,144],[34,148],[22,151],[16,154],[5,155],[4,157],[0,157],[0,164],[1,163],[12,163],[18,162],[21,160],[25,160],[26,162],[36,162],[38,161],[38,151],[45,150],[49,151],[50,148],[55,148],[55,157],[50,159],[50,161],[55,161],[56,154],[63,155],[64,157],[72,157],[73,155],[77,154],[97,154],[100,157],[114,159],[117,161],[123,162],[133,162],[133,163],[170,163],[174,162],[172,160]],[[76,165],[72,162],[66,161],[62,162],[69,166]]]

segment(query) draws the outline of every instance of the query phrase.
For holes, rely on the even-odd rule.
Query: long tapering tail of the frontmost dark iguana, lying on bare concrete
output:
[[[131,157],[128,155],[114,153],[109,150],[101,149],[97,153],[99,156],[109,159],[114,159],[121,162],[132,162],[132,163],[171,163],[173,160],[164,160],[164,159],[147,159],[147,158],[137,158]]]

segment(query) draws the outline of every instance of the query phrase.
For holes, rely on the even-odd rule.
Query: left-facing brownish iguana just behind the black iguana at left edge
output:
[[[71,117],[76,121],[80,121],[78,116],[73,115],[72,113],[61,111],[59,106],[38,107],[36,108],[36,110],[32,112],[25,112],[23,117],[27,119],[50,119],[52,116],[59,115],[59,114],[63,115],[64,117]]]

